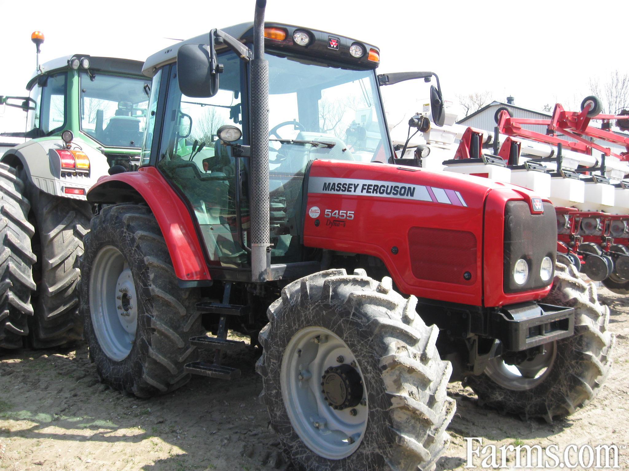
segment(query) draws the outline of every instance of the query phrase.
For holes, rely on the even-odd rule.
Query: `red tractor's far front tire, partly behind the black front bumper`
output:
[[[610,372],[615,344],[607,330],[609,308],[598,302],[596,288],[582,281],[574,266],[560,263],[552,291],[543,302],[574,308],[574,335],[548,344],[547,352],[553,354],[538,377],[523,374],[518,380],[501,374],[501,360],[490,360],[484,374],[466,379],[479,403],[502,413],[552,421],[573,414],[598,393]]]

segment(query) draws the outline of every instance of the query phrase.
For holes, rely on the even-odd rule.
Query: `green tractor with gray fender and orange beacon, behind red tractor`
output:
[[[42,33],[32,39],[39,53]],[[26,89],[0,97],[28,113],[25,132],[2,135],[30,138],[0,158],[0,349],[81,338],[86,193],[110,164],[138,165],[148,104],[142,62],[118,58],[60,57],[38,65]]]

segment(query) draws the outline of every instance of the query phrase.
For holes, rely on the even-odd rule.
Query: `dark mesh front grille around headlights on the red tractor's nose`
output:
[[[552,259],[553,268],[557,256],[557,219],[551,203],[544,203],[542,214],[531,214],[525,201],[509,201],[504,208],[504,281],[505,293],[535,290],[552,283],[540,278],[543,257]],[[528,279],[517,284],[513,268],[518,259],[528,263]]]

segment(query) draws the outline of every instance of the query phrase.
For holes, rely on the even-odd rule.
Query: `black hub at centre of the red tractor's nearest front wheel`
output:
[[[321,379],[323,399],[331,408],[343,410],[360,404],[362,379],[360,373],[350,365],[330,367]]]

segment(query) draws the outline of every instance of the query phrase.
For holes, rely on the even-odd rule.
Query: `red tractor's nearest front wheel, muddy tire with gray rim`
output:
[[[440,359],[438,329],[416,315],[416,304],[415,296],[404,299],[393,291],[388,277],[379,283],[362,269],[350,276],[336,269],[294,281],[269,307],[269,324],[259,336],[264,354],[256,365],[264,384],[261,399],[299,470],[434,467],[448,445],[445,429],[455,411],[446,394],[452,365]],[[308,337],[319,331],[328,332],[319,342]],[[300,342],[304,347],[295,350]],[[326,353],[328,344],[333,349]],[[352,409],[331,407],[330,393],[324,396],[321,389],[323,382],[328,387],[326,368],[340,367],[339,360],[350,372],[358,370],[364,384],[359,394],[365,394],[365,403],[361,399]],[[299,371],[293,371],[296,364]],[[326,369],[323,378],[320,369]],[[302,380],[308,381],[310,396],[299,392],[301,383],[294,386]],[[347,400],[358,399],[350,389],[344,390]]]

